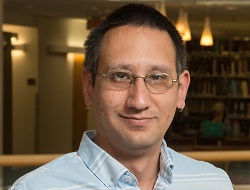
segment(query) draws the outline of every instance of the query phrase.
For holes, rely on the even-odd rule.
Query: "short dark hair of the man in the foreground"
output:
[[[176,50],[176,71],[179,76],[185,69],[186,47],[179,32],[171,21],[151,6],[130,3],[112,12],[99,26],[94,28],[85,42],[84,69],[95,73],[100,59],[100,46],[104,35],[112,28],[124,25],[146,26],[166,31]],[[93,81],[94,82],[94,81]]]

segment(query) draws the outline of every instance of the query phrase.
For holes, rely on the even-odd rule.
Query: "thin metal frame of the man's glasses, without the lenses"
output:
[[[131,82],[129,83],[129,85],[128,85],[127,87],[125,87],[125,88],[117,88],[117,87],[115,87],[115,86],[112,86],[112,85],[108,82],[108,79],[109,79],[108,74],[109,74],[110,72],[124,72],[124,73],[128,73],[128,74],[130,74],[130,76],[132,77],[132,80],[131,80]],[[162,90],[162,91],[157,91],[157,90],[151,89],[151,88],[149,88],[149,87],[147,86],[147,82],[148,82],[147,79],[148,79],[148,77],[151,76],[153,73],[152,73],[152,74],[149,74],[149,75],[146,75],[146,76],[139,76],[139,75],[133,74],[133,73],[130,72],[130,71],[116,71],[116,70],[110,70],[110,71],[108,71],[106,74],[105,74],[105,73],[99,73],[99,72],[95,72],[95,73],[93,73],[93,74],[94,74],[94,75],[100,75],[101,77],[105,78],[105,79],[106,79],[106,82],[108,83],[108,85],[110,85],[111,87],[113,87],[113,88],[115,88],[115,89],[117,89],[117,90],[126,90],[126,89],[128,89],[132,84],[135,83],[135,80],[136,80],[137,78],[142,78],[143,81],[144,81],[145,86],[146,86],[147,89],[148,89],[150,92],[152,92],[152,93],[163,93],[163,92],[166,92],[168,89],[172,88],[176,82],[179,83],[179,79],[178,79],[178,78],[177,78],[177,79],[173,79],[173,77],[171,77],[170,74],[167,74],[167,73],[156,73],[156,74],[163,74],[163,75],[165,75],[165,76],[168,76],[168,77],[170,77],[170,79],[172,80],[172,85],[171,85],[169,88],[166,88],[166,89],[164,89],[164,90]]]

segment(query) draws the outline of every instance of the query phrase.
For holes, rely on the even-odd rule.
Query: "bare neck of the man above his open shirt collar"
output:
[[[159,156],[162,141],[150,147],[125,148],[103,144],[95,139],[95,143],[123,164],[138,180],[141,190],[152,190],[159,173]]]

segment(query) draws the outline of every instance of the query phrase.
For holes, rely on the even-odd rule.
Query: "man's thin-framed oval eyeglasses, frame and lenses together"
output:
[[[178,79],[173,79],[166,73],[154,73],[147,76],[136,76],[129,71],[111,70],[107,74],[94,73],[106,78],[107,83],[118,90],[125,90],[135,83],[135,79],[142,78],[145,86],[152,93],[163,93],[170,89]]]

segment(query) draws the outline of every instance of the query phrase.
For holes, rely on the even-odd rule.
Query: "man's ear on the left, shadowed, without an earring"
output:
[[[83,71],[82,73],[82,91],[85,105],[87,107],[92,106],[92,73]]]

